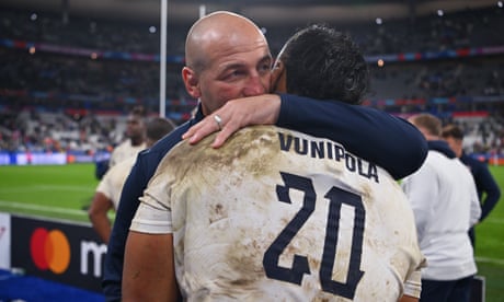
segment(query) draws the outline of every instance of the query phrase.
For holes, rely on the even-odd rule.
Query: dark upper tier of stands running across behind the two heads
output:
[[[495,5],[381,20],[370,24],[339,24],[335,20],[331,25],[350,32],[366,55],[436,51],[504,45],[504,36],[501,34],[504,26],[503,13],[503,9]],[[160,33],[156,28],[157,24],[10,9],[1,9],[0,15],[0,33],[3,38],[114,51],[159,53]],[[185,33],[190,25],[169,24],[168,54],[183,54]],[[280,25],[266,30],[274,53],[296,31]]]

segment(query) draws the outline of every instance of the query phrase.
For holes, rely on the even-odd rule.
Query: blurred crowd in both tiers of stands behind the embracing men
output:
[[[503,11],[468,9],[380,24],[333,25],[351,33],[366,56],[504,48]],[[156,55],[160,36],[156,25],[10,9],[1,9],[0,16],[0,150],[94,152],[121,142],[126,115],[135,104],[158,112],[157,59],[93,58],[30,47],[44,43]],[[179,27],[170,27],[168,54],[183,57],[187,28]],[[274,55],[295,30],[267,28]],[[167,66],[167,116],[177,124],[196,105],[182,84],[182,65],[169,60]],[[397,114],[429,112],[447,121],[454,121],[454,112],[490,113],[482,119],[455,121],[471,138],[467,139],[470,151],[504,153],[503,70],[504,51],[382,66],[370,62],[367,104]]]

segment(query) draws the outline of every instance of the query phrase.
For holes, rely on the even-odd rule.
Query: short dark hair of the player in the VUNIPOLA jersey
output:
[[[321,24],[297,32],[280,54],[287,92],[318,100],[363,102],[368,66],[358,46],[341,32]]]

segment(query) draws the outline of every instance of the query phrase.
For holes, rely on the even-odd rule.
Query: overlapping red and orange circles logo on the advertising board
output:
[[[37,228],[30,240],[30,252],[38,269],[50,269],[62,274],[70,264],[70,244],[67,236],[59,231]]]

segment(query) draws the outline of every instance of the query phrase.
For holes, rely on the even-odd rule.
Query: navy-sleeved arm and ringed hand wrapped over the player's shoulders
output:
[[[409,121],[370,107],[316,101],[289,94],[266,94],[229,101],[193,126],[183,138],[196,143],[218,130],[213,147],[222,146],[240,128],[277,125],[342,143],[345,149],[387,170],[396,179],[415,172],[427,155],[427,143]]]

